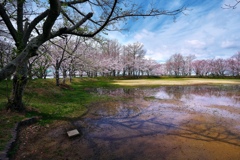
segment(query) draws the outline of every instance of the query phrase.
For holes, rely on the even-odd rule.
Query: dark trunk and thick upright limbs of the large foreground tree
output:
[[[54,38],[55,36],[62,34],[59,32],[57,32],[55,36],[51,34],[51,29],[57,17],[60,15],[61,10],[60,1],[58,0],[49,1],[50,9],[36,16],[35,19],[31,23],[29,23],[29,25],[23,27],[24,22],[23,19],[25,19],[24,16],[25,12],[23,8],[25,6],[24,5],[25,3],[26,3],[25,0],[22,1],[18,0],[17,5],[15,6],[17,7],[16,8],[17,14],[13,15],[8,15],[5,6],[2,4],[2,2],[0,3],[0,16],[2,17],[4,23],[6,24],[12,38],[14,39],[19,53],[15,59],[13,59],[4,68],[0,70],[0,81],[6,79],[7,77],[10,77],[15,72],[13,78],[12,94],[11,97],[8,99],[7,108],[18,111],[22,111],[25,109],[25,106],[23,104],[23,93],[25,86],[27,84],[28,74],[27,61],[29,60],[29,58],[36,55],[38,47],[41,46],[44,42],[46,42],[50,38]],[[92,13],[89,16],[88,18],[91,18]],[[13,25],[11,23],[11,17],[16,18],[17,30],[15,30],[15,24]],[[42,34],[38,35],[35,38],[30,38],[33,29],[44,18],[46,18],[46,20],[45,22],[43,22]],[[86,20],[81,22],[84,23]],[[81,23],[79,24],[79,26],[80,25]]]

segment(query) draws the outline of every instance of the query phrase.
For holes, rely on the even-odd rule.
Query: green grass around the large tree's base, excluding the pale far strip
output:
[[[57,87],[54,79],[31,80],[27,84],[24,102],[25,113],[6,111],[7,96],[11,91],[11,82],[0,82],[0,151],[11,138],[11,129],[20,120],[32,116],[40,117],[45,125],[55,120],[71,121],[80,117],[90,103],[108,100],[109,97],[92,94],[94,88],[114,87],[108,80],[74,79],[73,83]]]

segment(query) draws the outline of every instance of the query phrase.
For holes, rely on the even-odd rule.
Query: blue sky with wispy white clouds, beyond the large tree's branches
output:
[[[108,38],[117,39],[124,45],[140,42],[147,51],[146,58],[160,63],[176,53],[193,54],[196,59],[229,58],[240,51],[240,4],[236,9],[223,7],[235,2],[158,0],[157,5],[163,9],[185,6],[187,10],[175,20],[172,16],[129,20],[127,25],[122,24],[127,31],[109,32]]]

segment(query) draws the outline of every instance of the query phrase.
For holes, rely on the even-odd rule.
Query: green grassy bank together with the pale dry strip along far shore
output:
[[[152,78],[134,80],[114,80],[107,78],[76,78],[71,84],[55,86],[54,79],[29,81],[24,94],[27,106],[25,113],[5,110],[11,82],[0,82],[0,151],[11,138],[15,123],[32,116],[41,118],[40,124],[53,121],[71,121],[83,115],[91,103],[113,101],[106,96],[92,94],[96,88],[160,86],[160,85],[201,85],[201,84],[238,84],[239,79],[201,79],[201,78]]]

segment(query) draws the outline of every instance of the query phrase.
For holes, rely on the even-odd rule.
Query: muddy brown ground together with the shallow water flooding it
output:
[[[14,159],[239,160],[239,92],[188,90],[176,98],[159,89],[152,99],[94,104],[74,122],[31,125]],[[68,138],[75,128],[81,136]]]

